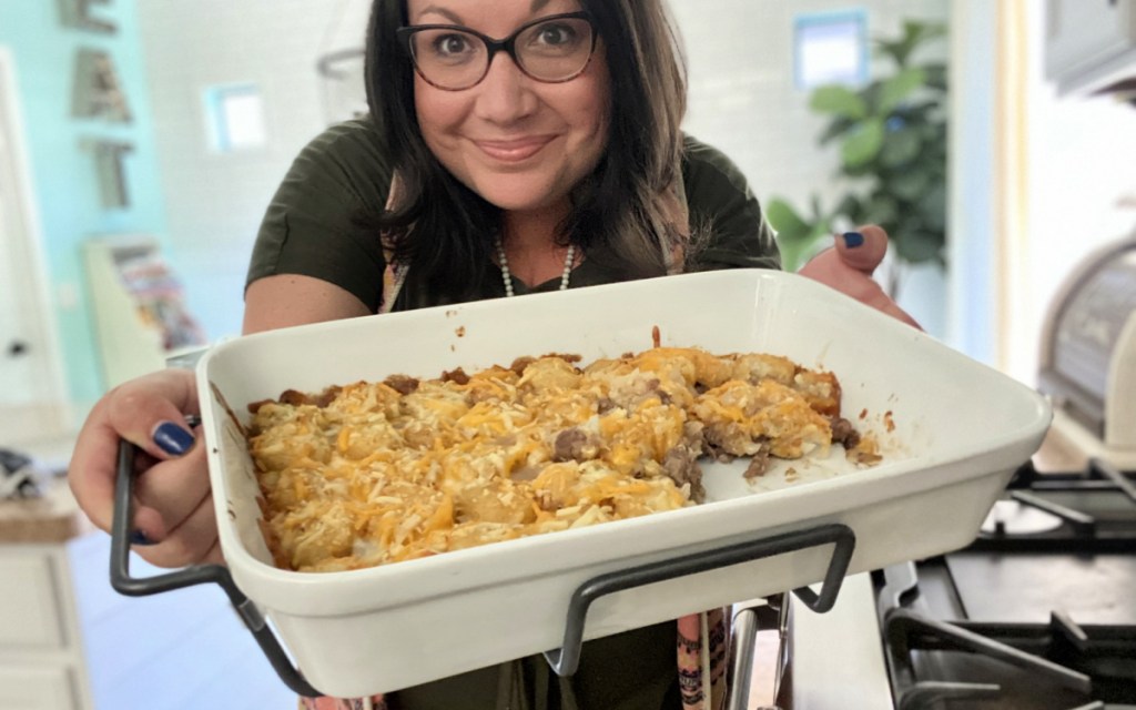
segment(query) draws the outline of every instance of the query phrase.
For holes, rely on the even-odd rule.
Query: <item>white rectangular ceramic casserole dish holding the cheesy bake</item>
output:
[[[663,345],[769,352],[840,378],[843,414],[885,460],[841,449],[786,462],[757,486],[746,461],[707,465],[707,504],[350,573],[277,569],[258,528],[251,461],[228,411],[287,389],[392,374],[436,377],[519,356],[584,361]],[[560,648],[569,599],[598,575],[727,542],[840,523],[849,573],[967,545],[1050,423],[1025,385],[803,277],[730,270],[287,328],[214,348],[198,365],[220,543],[236,585],[274,621],[307,680],[359,696]],[[228,409],[227,409],[228,408]],[[862,418],[861,418],[862,417]],[[762,490],[763,488],[763,490]],[[752,493],[752,494],[751,494]],[[788,591],[824,578],[832,545],[598,600],[585,637]]]

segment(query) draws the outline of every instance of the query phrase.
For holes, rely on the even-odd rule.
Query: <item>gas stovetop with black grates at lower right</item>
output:
[[[895,707],[1136,709],[1136,488],[1022,467],[978,540],[876,575]]]

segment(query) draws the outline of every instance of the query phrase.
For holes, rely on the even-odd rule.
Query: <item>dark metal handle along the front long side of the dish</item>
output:
[[[751,562],[785,552],[796,552],[807,548],[834,544],[833,557],[825,573],[820,594],[809,587],[793,590],[809,609],[824,613],[836,603],[836,594],[847,573],[852,551],[855,549],[855,533],[846,525],[834,523],[804,531],[795,531],[772,537],[757,537],[732,543],[705,552],[695,552],[668,560],[649,562],[630,569],[612,571],[594,577],[576,587],[568,604],[568,620],[565,626],[563,645],[546,651],[544,658],[558,676],[570,676],[579,666],[579,654],[584,645],[584,623],[587,609],[596,599],[615,592],[666,582],[677,577],[695,575],[711,569]]]

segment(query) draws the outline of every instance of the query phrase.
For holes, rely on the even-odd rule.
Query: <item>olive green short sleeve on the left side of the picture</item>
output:
[[[369,119],[333,126],[295,158],[265,212],[245,285],[277,274],[333,283],[373,311],[383,289],[382,215],[391,168]]]

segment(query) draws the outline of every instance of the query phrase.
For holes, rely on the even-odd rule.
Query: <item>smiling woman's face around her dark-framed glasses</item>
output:
[[[407,5],[410,25],[460,25],[494,39],[542,17],[582,9],[577,0]],[[610,103],[602,40],[596,40],[587,67],[562,83],[527,76],[504,51],[469,89],[446,91],[415,74],[418,126],[431,151],[470,190],[509,211],[565,208],[569,192],[603,153]]]

